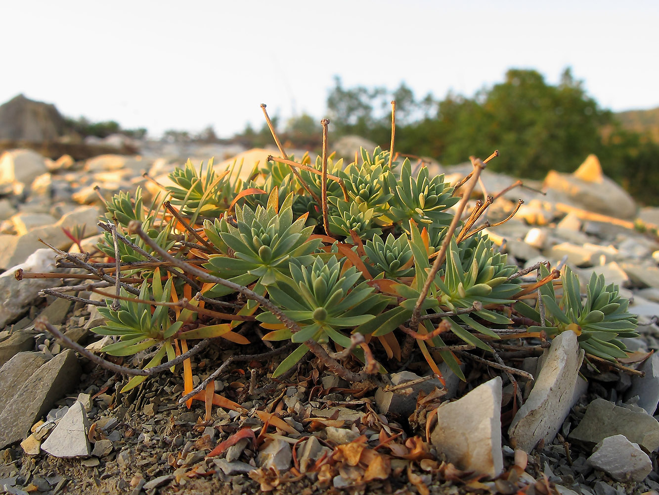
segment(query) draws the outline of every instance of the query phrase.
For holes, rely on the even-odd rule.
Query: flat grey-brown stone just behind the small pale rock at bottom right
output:
[[[588,405],[586,414],[579,426],[570,432],[569,438],[593,445],[619,434],[648,452],[659,447],[659,422],[656,419],[645,412],[630,411],[601,398]]]

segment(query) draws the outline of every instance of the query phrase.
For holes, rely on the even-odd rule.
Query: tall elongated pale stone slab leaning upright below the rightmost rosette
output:
[[[530,452],[540,439],[546,444],[554,440],[573,406],[583,355],[573,331],[554,338],[529,398],[508,430],[513,447]]]

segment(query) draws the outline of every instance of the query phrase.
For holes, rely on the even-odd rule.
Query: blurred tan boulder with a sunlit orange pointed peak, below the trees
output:
[[[616,182],[606,177],[597,156],[591,154],[573,174],[551,170],[544,187],[563,195],[567,202],[594,213],[635,218],[636,203]]]

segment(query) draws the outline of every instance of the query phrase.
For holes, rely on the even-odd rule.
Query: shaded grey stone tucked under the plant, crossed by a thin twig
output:
[[[446,398],[451,399],[451,397],[455,396],[455,390],[460,379],[445,363],[440,365],[440,371],[446,382]],[[401,385],[406,381],[413,382],[418,380],[421,380],[420,376],[408,371],[391,374],[391,385],[394,386]],[[416,409],[416,399],[418,399],[419,392],[423,391],[424,395],[428,395],[428,393],[436,388],[444,389],[444,385],[437,378],[413,383],[409,387],[400,388],[395,391],[386,391],[384,387],[380,387],[375,393],[375,403],[378,405],[378,411],[381,414],[400,414],[407,418]]]

